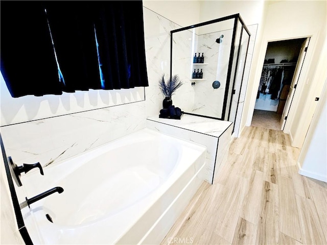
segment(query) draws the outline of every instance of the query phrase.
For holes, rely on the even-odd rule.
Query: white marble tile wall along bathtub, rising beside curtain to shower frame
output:
[[[144,24],[149,78],[149,87],[145,89],[146,101],[131,103],[135,101],[134,95],[115,91],[122,94],[116,96],[117,100],[108,97],[110,105],[113,105],[110,107],[85,108],[81,112],[35,120],[36,116],[24,123],[3,126],[1,133],[7,155],[12,156],[17,164],[40,162],[42,166],[47,166],[145,128],[146,117],[158,115],[162,108],[164,96],[157,81],[163,73],[169,77],[170,30],[180,27],[147,8],[144,8]],[[125,100],[118,100],[120,97]],[[69,107],[67,101],[66,104],[65,100],[61,103]],[[7,104],[8,108],[2,113],[10,111],[8,105],[11,104]]]

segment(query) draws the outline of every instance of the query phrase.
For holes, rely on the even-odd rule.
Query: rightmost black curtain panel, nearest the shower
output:
[[[148,86],[142,4],[101,2],[98,10],[96,30],[106,88]]]

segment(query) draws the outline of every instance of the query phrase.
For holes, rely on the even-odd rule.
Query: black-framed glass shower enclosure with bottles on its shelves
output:
[[[183,81],[173,101],[185,114],[235,128],[250,35],[239,14],[171,31],[170,74]]]

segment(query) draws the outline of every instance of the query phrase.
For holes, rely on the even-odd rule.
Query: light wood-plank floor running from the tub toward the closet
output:
[[[283,131],[246,127],[161,244],[327,244],[327,184],[298,155]]]

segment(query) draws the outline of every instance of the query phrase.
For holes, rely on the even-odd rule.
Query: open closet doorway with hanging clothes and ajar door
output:
[[[252,126],[284,129],[309,39],[268,42]]]

